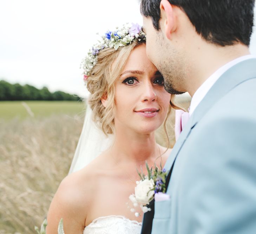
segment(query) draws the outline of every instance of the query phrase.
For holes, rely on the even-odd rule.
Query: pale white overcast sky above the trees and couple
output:
[[[0,0],[0,22],[0,80],[84,97],[79,66],[96,33],[142,18],[138,0]]]

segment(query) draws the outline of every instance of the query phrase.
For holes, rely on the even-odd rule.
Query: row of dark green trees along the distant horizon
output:
[[[42,101],[78,101],[81,98],[62,91],[51,93],[47,87],[42,89],[32,85],[11,84],[0,80],[0,101],[20,101],[20,100],[42,100]]]

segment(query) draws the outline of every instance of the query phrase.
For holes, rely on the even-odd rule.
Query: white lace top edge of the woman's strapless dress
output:
[[[94,219],[85,227],[83,234],[140,234],[142,223],[121,215]]]

